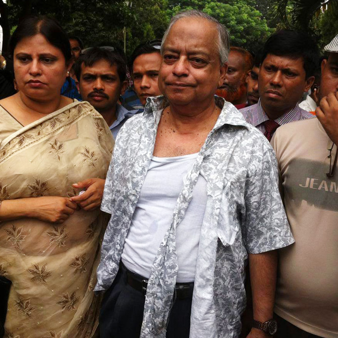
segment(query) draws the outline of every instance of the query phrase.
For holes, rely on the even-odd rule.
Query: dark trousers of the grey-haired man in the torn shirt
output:
[[[145,297],[127,284],[122,267],[101,304],[100,338],[139,338]],[[189,338],[192,299],[176,299],[167,323],[167,338]]]

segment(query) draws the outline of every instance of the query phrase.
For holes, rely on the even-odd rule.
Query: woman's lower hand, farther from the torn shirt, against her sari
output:
[[[46,196],[27,199],[31,217],[51,223],[63,223],[74,213],[77,204],[68,197]]]

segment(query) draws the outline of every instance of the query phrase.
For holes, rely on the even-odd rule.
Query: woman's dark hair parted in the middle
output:
[[[10,40],[12,57],[15,47],[22,39],[36,34],[42,34],[50,44],[59,48],[64,54],[66,63],[72,60],[71,45],[67,33],[56,20],[46,16],[29,16],[19,23]]]

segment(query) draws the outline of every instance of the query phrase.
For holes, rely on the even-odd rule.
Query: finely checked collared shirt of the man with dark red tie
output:
[[[266,115],[260,99],[258,103],[250,105],[249,107],[240,109],[240,112],[243,114],[246,122],[250,123],[252,126],[256,127],[263,134],[265,133],[264,121],[269,120]],[[313,115],[307,112],[306,110],[299,107],[298,104],[291,110],[287,111],[285,114],[280,116],[278,119],[274,120],[278,123],[279,126],[285,125],[289,122],[312,119]]]

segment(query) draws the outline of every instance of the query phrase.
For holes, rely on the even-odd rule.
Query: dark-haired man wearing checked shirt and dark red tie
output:
[[[305,33],[282,30],[265,42],[258,77],[260,100],[241,112],[269,141],[279,126],[313,118],[298,102],[313,84],[318,58],[316,44]]]

